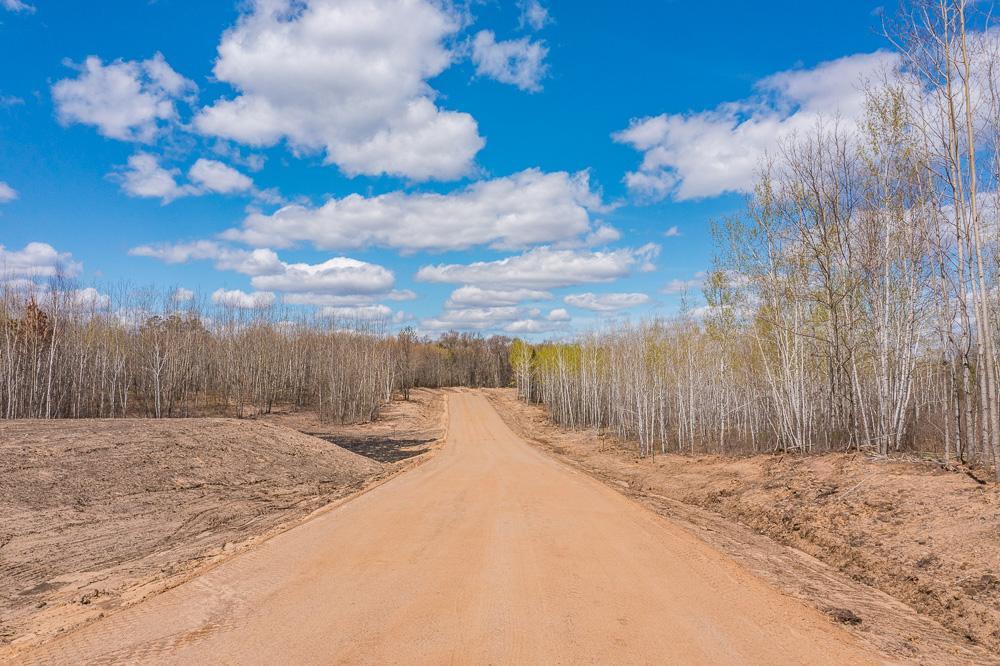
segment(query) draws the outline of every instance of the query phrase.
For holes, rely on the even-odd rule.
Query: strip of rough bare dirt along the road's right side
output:
[[[613,438],[552,424],[512,390],[489,395],[525,439],[686,525],[880,651],[1000,663],[995,484],[846,454],[640,459]]]

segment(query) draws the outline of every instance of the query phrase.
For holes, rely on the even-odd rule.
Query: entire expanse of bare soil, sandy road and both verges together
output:
[[[0,661],[1000,663],[992,485],[849,455],[639,459],[487,392],[576,474],[459,393],[433,458],[446,392],[364,426],[0,423]]]

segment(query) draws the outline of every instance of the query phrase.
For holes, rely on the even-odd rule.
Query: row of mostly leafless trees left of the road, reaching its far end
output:
[[[384,321],[205,308],[176,293],[0,286],[0,417],[171,417],[313,409],[376,418],[415,386],[506,386],[510,341]]]

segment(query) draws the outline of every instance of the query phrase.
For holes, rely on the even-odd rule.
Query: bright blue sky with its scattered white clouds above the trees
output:
[[[862,1],[0,0],[0,271],[431,334],[669,314],[885,47]]]

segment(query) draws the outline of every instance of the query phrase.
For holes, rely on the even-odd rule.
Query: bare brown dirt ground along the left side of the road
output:
[[[0,660],[381,482],[444,427],[435,391],[352,426],[310,413],[0,421]]]

